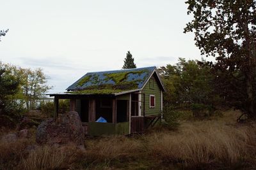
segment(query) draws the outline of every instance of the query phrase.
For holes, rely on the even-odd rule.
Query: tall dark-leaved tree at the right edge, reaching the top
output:
[[[256,1],[188,0],[194,32],[202,54],[216,75],[216,90],[230,106],[256,117]]]

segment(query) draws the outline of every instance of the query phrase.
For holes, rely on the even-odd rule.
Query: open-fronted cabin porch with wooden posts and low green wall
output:
[[[52,96],[54,96],[54,117],[58,117],[59,99],[70,99],[70,111],[77,111],[86,135],[127,135],[143,132],[145,129],[143,103],[145,100],[143,94],[138,92],[122,96],[112,94],[52,94]],[[100,117],[107,122],[96,122]]]

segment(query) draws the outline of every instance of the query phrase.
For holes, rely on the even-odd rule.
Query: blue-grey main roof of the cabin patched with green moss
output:
[[[67,88],[72,94],[115,94],[141,89],[156,67],[87,73]]]

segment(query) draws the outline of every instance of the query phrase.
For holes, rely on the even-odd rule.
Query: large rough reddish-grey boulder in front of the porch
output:
[[[70,111],[55,120],[50,118],[42,122],[36,130],[36,142],[49,145],[74,143],[84,146],[84,132],[78,113]]]

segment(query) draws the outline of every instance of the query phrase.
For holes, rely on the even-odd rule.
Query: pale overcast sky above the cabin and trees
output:
[[[180,0],[23,0],[3,1],[0,60],[41,67],[64,92],[87,72],[121,69],[129,50],[137,67],[175,64],[179,57],[200,60],[192,16]]]

